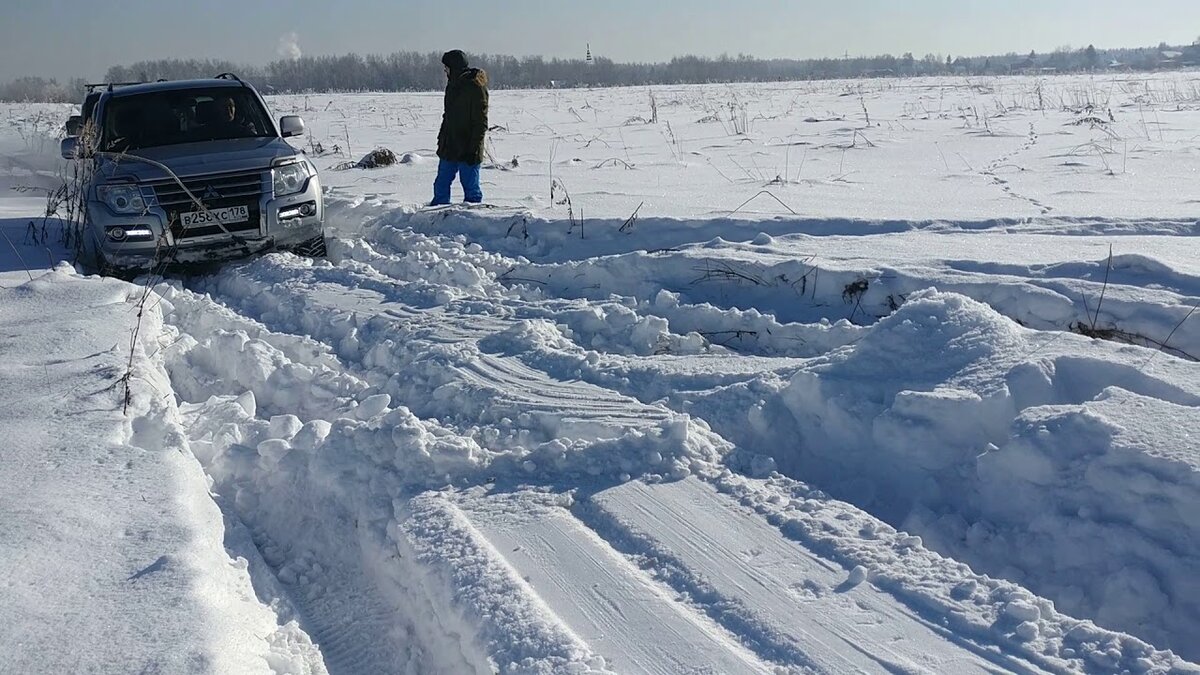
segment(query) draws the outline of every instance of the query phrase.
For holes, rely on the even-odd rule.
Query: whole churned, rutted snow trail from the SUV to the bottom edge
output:
[[[514,261],[462,240],[365,233],[332,264],[160,287],[191,444],[331,673],[1187,668],[748,476],[769,453],[584,372],[691,353],[664,387],[708,390],[802,359],[748,364],[617,299],[510,288]]]

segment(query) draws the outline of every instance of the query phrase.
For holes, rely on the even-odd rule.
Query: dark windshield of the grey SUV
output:
[[[155,91],[114,97],[104,108],[108,153],[198,141],[275,136],[266,110],[248,89]]]

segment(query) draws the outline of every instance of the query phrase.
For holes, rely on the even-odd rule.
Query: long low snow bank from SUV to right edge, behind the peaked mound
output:
[[[348,234],[402,253],[450,233],[481,271],[529,299],[616,297],[666,319],[676,334],[751,354],[821,354],[856,340],[853,324],[874,323],[931,286],[1030,328],[1085,325],[1132,344],[1166,342],[1175,356],[1200,354],[1200,323],[1187,321],[1200,297],[1200,268],[1175,237],[1145,237],[1146,223],[1129,225],[1129,235],[1115,241],[1087,235],[1112,222],[1075,220],[863,222],[835,234],[800,220],[694,220],[647,222],[634,233],[594,227],[577,239],[568,225],[520,210],[389,210],[335,198],[330,214]],[[524,237],[532,223],[540,223],[536,233]],[[378,255],[358,259],[395,269]]]

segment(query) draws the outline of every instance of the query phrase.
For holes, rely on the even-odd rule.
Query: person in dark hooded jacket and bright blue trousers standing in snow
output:
[[[484,201],[479,169],[487,133],[487,73],[470,67],[460,49],[443,54],[442,65],[446,73],[445,112],[438,131],[438,177],[430,205],[450,203],[455,175],[462,184],[463,201],[478,204]]]

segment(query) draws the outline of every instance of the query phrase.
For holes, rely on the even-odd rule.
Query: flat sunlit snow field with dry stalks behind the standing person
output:
[[[484,190],[493,204],[559,214],[569,195],[584,235],[640,205],[640,219],[1194,223],[1198,85],[1181,72],[497,90]],[[326,184],[428,202],[439,94],[272,104],[305,117],[310,151],[338,147],[322,167],[374,147],[409,160],[331,171]]]

